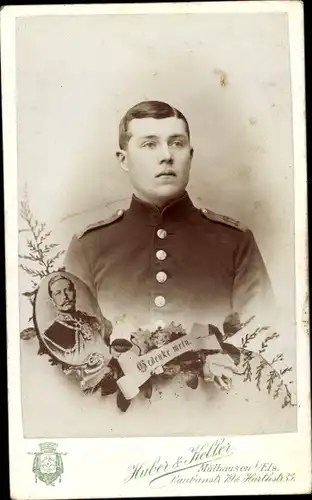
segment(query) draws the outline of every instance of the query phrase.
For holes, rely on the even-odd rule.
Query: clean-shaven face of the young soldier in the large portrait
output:
[[[158,206],[180,196],[188,183],[193,150],[183,120],[134,119],[126,151],[119,152],[135,194]]]

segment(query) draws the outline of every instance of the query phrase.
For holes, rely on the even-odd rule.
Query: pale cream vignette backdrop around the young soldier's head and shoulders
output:
[[[191,127],[189,193],[253,230],[294,366],[287,15],[38,16],[20,18],[16,34],[19,198],[27,185],[55,242],[65,249],[84,224],[127,206],[131,188],[115,158],[119,120],[143,99],[171,103]],[[21,292],[27,286],[21,272]],[[24,328],[24,297],[20,310]]]

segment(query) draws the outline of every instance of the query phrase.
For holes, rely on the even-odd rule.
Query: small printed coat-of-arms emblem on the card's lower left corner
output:
[[[55,486],[58,479],[61,482],[61,475],[64,472],[61,453],[57,452],[56,443],[39,444],[40,452],[35,453],[33,462],[33,473],[35,480],[39,479],[47,485]]]

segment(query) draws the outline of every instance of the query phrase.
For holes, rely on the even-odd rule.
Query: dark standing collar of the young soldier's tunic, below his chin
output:
[[[148,223],[157,225],[164,220],[185,221],[186,218],[196,211],[197,209],[185,191],[180,198],[172,201],[163,208],[151,205],[133,195],[127,214],[131,218],[142,219]]]

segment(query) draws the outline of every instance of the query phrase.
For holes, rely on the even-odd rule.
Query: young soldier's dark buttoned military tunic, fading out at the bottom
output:
[[[220,325],[270,302],[252,232],[196,208],[187,193],[164,209],[133,196],[128,210],[73,237],[65,266],[90,287],[115,331]]]

